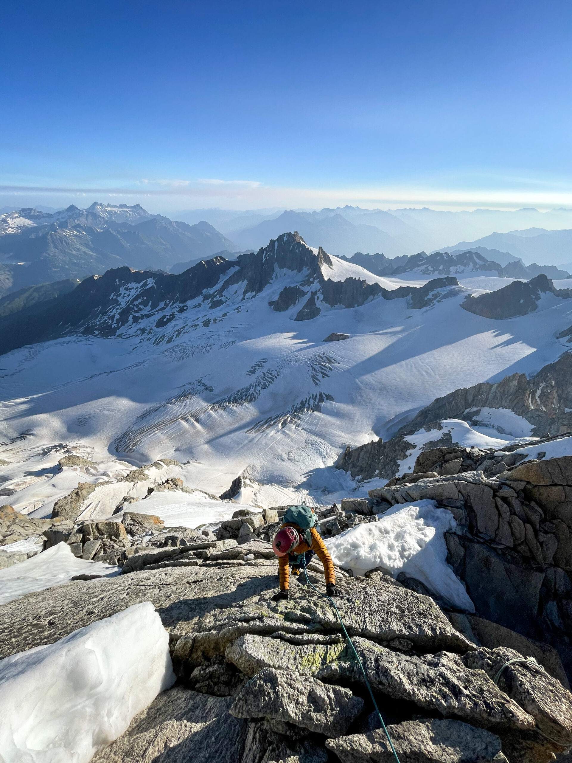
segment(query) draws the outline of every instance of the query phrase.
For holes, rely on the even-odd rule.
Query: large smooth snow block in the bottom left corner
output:
[[[174,683],[149,601],[11,655],[0,661],[0,761],[88,763]]]

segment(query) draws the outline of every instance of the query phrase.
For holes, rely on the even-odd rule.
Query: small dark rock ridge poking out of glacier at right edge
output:
[[[570,299],[572,296],[570,289],[554,288],[551,279],[541,273],[525,283],[513,281],[497,291],[489,291],[477,297],[468,295],[461,302],[461,307],[484,318],[506,320],[534,312],[541,296],[545,294],[552,294],[561,299]]]

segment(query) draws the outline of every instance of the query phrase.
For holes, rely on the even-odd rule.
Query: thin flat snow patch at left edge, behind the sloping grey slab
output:
[[[7,604],[33,591],[67,583],[76,575],[114,578],[120,573],[121,567],[76,559],[69,546],[61,542],[25,562],[0,570],[0,604]]]

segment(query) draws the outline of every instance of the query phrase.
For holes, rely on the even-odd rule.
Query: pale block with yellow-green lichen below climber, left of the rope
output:
[[[251,678],[263,668],[280,670],[284,665],[300,674],[315,675],[340,655],[345,655],[345,643],[294,645],[283,639],[251,633],[230,643],[225,652],[227,660]]]

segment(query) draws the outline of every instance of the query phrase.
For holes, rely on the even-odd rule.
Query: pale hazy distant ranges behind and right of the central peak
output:
[[[554,209],[539,212],[536,209],[499,211],[438,211],[423,209],[362,209],[359,207],[324,208],[307,210],[252,210],[228,211],[220,209],[187,210],[177,213],[180,219],[196,222],[200,218],[209,222],[243,249],[258,250],[269,237],[277,237],[284,230],[299,230],[312,246],[323,246],[336,256],[350,256],[352,252],[383,252],[385,256],[412,255],[425,251],[478,251],[480,246],[500,252],[495,262],[505,265],[509,259],[521,258],[525,262],[570,262],[572,253],[561,256],[561,250],[552,237],[546,246],[542,240],[519,246],[519,240],[487,240],[492,230],[512,232],[517,236],[530,236],[532,231],[556,233],[555,228],[572,229],[572,210]],[[493,234],[494,236],[495,234]],[[508,235],[503,233],[501,235]],[[485,237],[485,238],[481,238]],[[444,241],[458,240],[455,246],[443,246]],[[498,244],[498,246],[497,246]],[[513,248],[511,248],[511,244]],[[554,248],[555,246],[555,248]],[[505,253],[506,262],[502,253]],[[567,252],[564,246],[564,252]],[[491,259],[490,254],[484,253]]]

